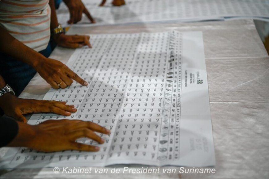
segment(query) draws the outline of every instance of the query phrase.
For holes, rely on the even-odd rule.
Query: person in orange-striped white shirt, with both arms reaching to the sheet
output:
[[[0,0],[0,75],[17,96],[36,72],[55,89],[66,88],[73,80],[88,85],[48,56],[52,51],[50,37],[67,48],[91,47],[90,37],[65,35],[57,29],[54,0]]]

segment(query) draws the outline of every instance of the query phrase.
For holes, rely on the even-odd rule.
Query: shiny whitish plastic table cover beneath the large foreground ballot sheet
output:
[[[53,168],[0,171],[0,178],[268,178],[269,57],[253,20],[72,27],[70,34],[203,31],[216,153],[214,174],[55,174]],[[67,62],[73,49],[57,47],[50,58]],[[195,53],[195,52],[194,52]],[[50,86],[37,74],[20,95],[42,99]],[[6,148],[0,150],[1,156]],[[116,165],[107,168],[141,168]],[[145,166],[144,166],[145,167]],[[155,168],[155,167],[150,167]],[[177,168],[166,166],[163,168]]]

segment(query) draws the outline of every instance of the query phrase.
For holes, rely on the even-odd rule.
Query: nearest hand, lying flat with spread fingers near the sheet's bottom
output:
[[[99,147],[77,143],[76,139],[87,137],[98,143],[104,140],[94,132],[109,134],[110,131],[95,123],[81,120],[47,120],[31,126],[18,122],[19,132],[9,147],[29,147],[37,151],[62,150],[99,151]]]

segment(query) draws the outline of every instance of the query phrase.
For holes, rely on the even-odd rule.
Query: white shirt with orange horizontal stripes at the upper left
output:
[[[0,0],[0,25],[28,47],[45,49],[50,37],[49,0]]]

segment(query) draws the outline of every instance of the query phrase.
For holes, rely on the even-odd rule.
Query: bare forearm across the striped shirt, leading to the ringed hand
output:
[[[16,60],[34,67],[38,60],[45,59],[43,55],[29,48],[0,27],[0,51]]]

